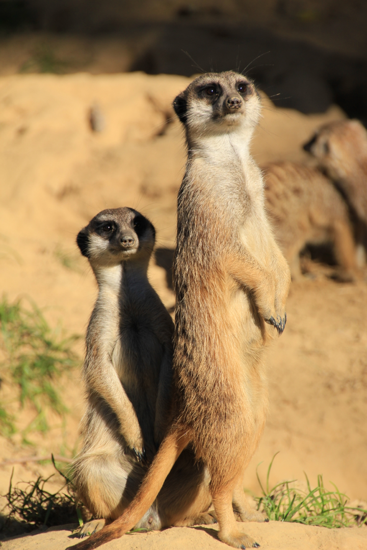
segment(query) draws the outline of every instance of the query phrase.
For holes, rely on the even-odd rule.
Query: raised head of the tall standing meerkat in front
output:
[[[254,83],[228,71],[196,78],[176,97],[173,108],[188,133],[203,136],[254,128],[261,105]]]

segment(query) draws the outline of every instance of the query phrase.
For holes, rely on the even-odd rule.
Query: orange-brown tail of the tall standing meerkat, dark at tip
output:
[[[174,430],[169,433],[161,443],[158,452],[144,477],[143,482],[136,493],[135,498],[124,510],[123,514],[114,520],[111,524],[103,527],[87,540],[68,546],[66,550],[91,550],[98,548],[102,544],[119,538],[129,531],[143,517],[146,510],[153,504],[157,494],[160,492],[163,483],[173,464],[187,447],[189,438],[180,430]]]

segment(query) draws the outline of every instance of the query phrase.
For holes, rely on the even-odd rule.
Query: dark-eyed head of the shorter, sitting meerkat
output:
[[[76,237],[81,254],[100,266],[117,265],[134,255],[149,259],[154,243],[149,219],[127,207],[102,210]]]

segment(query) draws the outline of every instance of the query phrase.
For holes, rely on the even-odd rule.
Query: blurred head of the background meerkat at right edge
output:
[[[367,131],[359,120],[337,120],[316,131],[303,149],[317,158],[330,178],[341,180],[367,159]]]

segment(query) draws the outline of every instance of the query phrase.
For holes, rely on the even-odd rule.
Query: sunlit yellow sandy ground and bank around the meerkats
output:
[[[0,280],[10,300],[28,296],[45,308],[52,326],[61,322],[68,334],[84,335],[96,285],[75,236],[103,208],[132,206],[157,229],[159,250],[150,277],[172,311],[174,296],[165,267],[174,246],[185,152],[182,130],[171,119],[171,102],[188,82],[140,73],[0,78]],[[96,105],[103,118],[101,132],[92,132],[89,125],[89,109]],[[321,123],[343,116],[337,107],[324,115],[305,116],[277,109],[264,98],[254,156],[260,164],[308,162],[302,143]],[[367,285],[362,281],[338,284],[316,269],[314,279],[292,285],[287,329],[269,350],[270,415],[247,471],[250,492],[259,494],[256,466],[262,463],[264,479],[279,451],[271,484],[303,479],[306,472],[315,485],[317,474],[323,474],[327,485],[336,483],[351,499],[367,499],[366,309]],[[83,355],[82,341],[76,351]],[[75,452],[83,413],[79,370],[63,380],[63,388],[70,409],[66,421],[51,419],[52,430],[45,437],[32,435],[30,448],[22,447],[19,434],[12,441],[0,438],[0,461]],[[3,384],[0,397],[7,391]],[[32,414],[30,409],[20,412],[19,426]],[[10,466],[0,467],[2,494],[11,471]],[[52,472],[52,466],[19,464],[13,481]],[[329,531],[271,523],[245,529],[256,533],[263,548],[367,547],[366,527]],[[219,547],[208,532],[139,533],[110,547]],[[68,535],[50,530],[5,542],[4,548],[56,550],[65,546]]]

